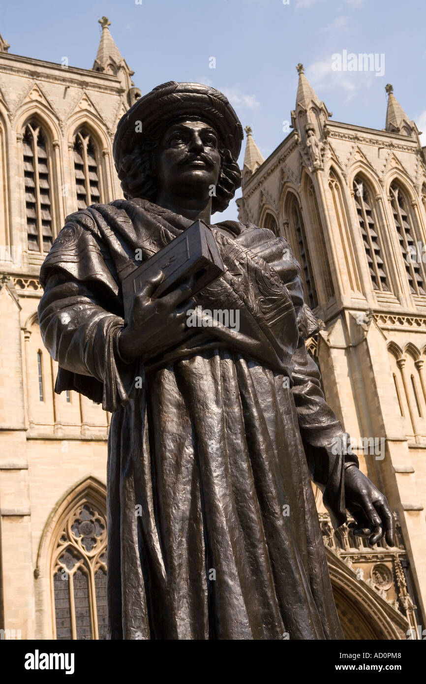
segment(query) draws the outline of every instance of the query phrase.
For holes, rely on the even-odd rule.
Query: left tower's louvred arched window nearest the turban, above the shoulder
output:
[[[101,161],[93,136],[85,129],[74,138],[74,172],[77,189],[77,208],[101,202]]]

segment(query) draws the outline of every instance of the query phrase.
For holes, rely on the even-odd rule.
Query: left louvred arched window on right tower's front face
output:
[[[382,244],[378,233],[378,215],[375,198],[362,176],[354,179],[354,200],[364,250],[369,264],[369,272],[374,290],[389,291],[386,265],[383,259]]]

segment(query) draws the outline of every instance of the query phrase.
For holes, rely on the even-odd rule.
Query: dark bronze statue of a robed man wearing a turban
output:
[[[142,129],[142,130],[141,130]],[[108,441],[111,639],[340,639],[311,479],[335,526],[392,544],[386,499],[358,469],[304,338],[287,241],[211,225],[241,184],[241,124],[224,95],[164,83],[118,124],[125,199],[68,216],[40,272],[44,344],[72,389],[112,412]],[[153,276],[124,324],[121,282],[197,219],[224,274],[188,301]],[[187,311],[239,311],[239,329]],[[340,445],[340,446],[339,446]]]

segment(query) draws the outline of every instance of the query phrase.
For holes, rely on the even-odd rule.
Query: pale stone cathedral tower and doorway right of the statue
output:
[[[250,127],[239,219],[284,235],[321,320],[308,350],[360,467],[395,511],[395,548],[333,534],[318,499],[347,637],[426,637],[426,165],[386,86],[382,131],[333,121],[297,66],[293,129],[263,159]],[[420,627],[418,627],[420,625]]]

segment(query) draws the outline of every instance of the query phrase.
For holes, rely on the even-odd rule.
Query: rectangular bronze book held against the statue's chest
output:
[[[133,296],[159,270],[163,271],[165,278],[155,293],[156,297],[168,294],[191,276],[195,276],[194,287],[191,289],[191,295],[195,295],[221,276],[224,264],[208,226],[200,220],[194,222],[124,278],[122,293],[126,322]]]

